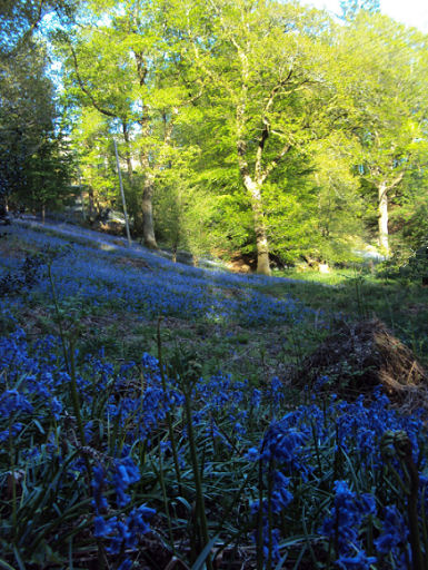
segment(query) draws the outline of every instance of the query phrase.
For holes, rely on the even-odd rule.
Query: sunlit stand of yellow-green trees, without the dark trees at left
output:
[[[89,171],[116,136],[147,245],[155,212],[172,247],[256,250],[269,274],[269,254],[344,259],[376,208],[388,252],[390,203],[427,138],[426,46],[377,0],[342,8],[335,24],[275,0],[82,3],[62,42],[76,140]],[[91,178],[107,196],[112,176]]]

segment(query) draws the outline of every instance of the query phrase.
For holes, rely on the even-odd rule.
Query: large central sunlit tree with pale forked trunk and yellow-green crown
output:
[[[329,22],[316,10],[250,0],[180,2],[175,17],[206,85],[199,105],[210,142],[227,156],[225,166],[236,169],[246,190],[257,271],[269,274],[265,188],[292,154],[318,136],[329,91],[324,80],[331,53]]]

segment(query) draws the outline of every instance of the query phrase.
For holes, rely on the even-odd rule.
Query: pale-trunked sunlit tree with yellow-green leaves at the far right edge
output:
[[[354,100],[351,130],[360,142],[355,164],[364,188],[376,193],[379,246],[389,255],[389,203],[417,167],[427,135],[425,41],[417,30],[362,12],[342,41],[344,88]]]

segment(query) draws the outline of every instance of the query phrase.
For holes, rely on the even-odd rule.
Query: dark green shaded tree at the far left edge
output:
[[[0,193],[42,208],[68,187],[70,163],[56,134],[57,108],[47,52],[28,39],[0,61]],[[30,199],[30,196],[32,198]]]

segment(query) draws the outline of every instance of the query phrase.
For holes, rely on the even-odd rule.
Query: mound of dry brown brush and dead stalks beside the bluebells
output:
[[[340,322],[308,356],[296,382],[347,400],[381,384],[391,402],[428,409],[428,373],[414,353],[377,320]]]

